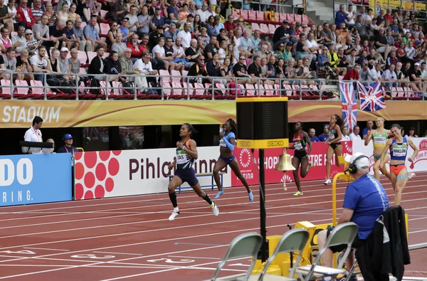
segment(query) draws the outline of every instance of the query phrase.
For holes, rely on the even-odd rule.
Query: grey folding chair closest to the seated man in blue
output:
[[[345,270],[342,270],[342,266],[344,265],[344,262],[350,253],[350,250],[352,250],[352,243],[354,238],[356,238],[358,230],[359,227],[357,226],[357,224],[351,222],[342,223],[336,226],[327,238],[325,247],[319,250],[319,254],[317,255],[314,263],[312,263],[312,265],[305,265],[303,267],[297,268],[297,274],[300,279],[304,281],[309,281],[325,276],[336,277],[339,274],[345,273]],[[347,245],[347,249],[345,250],[344,255],[342,255],[342,259],[339,261],[338,267],[332,268],[318,265],[320,262],[320,258],[322,258],[322,255],[325,253],[325,250],[327,250],[327,248],[331,246],[337,245]]]

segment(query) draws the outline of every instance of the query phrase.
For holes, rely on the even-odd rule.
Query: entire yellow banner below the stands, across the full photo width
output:
[[[359,105],[357,105],[359,107]],[[427,120],[427,102],[387,101],[377,112],[358,110],[357,120],[377,116],[385,120]],[[290,101],[289,122],[327,122],[332,114],[342,115],[341,102]],[[0,127],[26,128],[34,116],[41,116],[43,127],[110,127],[137,125],[222,124],[236,120],[233,100],[0,100]]]

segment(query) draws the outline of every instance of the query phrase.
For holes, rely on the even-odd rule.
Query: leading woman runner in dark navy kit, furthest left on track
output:
[[[179,137],[181,140],[176,142],[176,157],[172,164],[169,164],[169,170],[174,169],[176,165],[175,176],[169,182],[167,187],[169,191],[169,198],[171,199],[172,205],[174,206],[174,211],[172,215],[169,216],[169,221],[174,221],[176,216],[179,215],[178,203],[176,203],[176,193],[175,189],[178,186],[181,186],[185,181],[191,186],[192,189],[199,195],[201,198],[204,198],[206,202],[212,208],[215,216],[219,215],[219,209],[216,204],[211,201],[208,193],[201,190],[199,180],[196,178],[196,173],[193,169],[193,162],[199,156],[197,154],[196,142],[191,139],[191,136],[195,133],[195,129],[191,124],[184,123],[179,130]]]

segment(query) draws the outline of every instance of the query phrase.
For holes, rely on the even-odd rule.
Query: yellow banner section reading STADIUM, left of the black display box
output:
[[[30,127],[34,116],[43,127],[222,124],[236,116],[236,103],[221,100],[0,100],[0,127]]]

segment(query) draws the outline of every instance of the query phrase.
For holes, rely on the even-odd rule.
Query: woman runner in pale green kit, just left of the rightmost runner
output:
[[[381,154],[386,147],[387,139],[389,138],[391,132],[388,129],[384,129],[384,118],[376,117],[375,120],[376,129],[368,130],[368,136],[364,140],[365,146],[369,144],[372,139],[372,143],[374,144],[374,177],[379,180],[379,171],[381,171],[384,176],[390,178],[389,171],[387,171],[386,166],[379,166],[379,159],[381,158]],[[389,161],[389,154],[386,154],[386,158],[384,159],[384,163]]]

